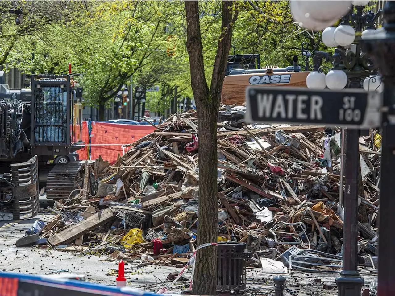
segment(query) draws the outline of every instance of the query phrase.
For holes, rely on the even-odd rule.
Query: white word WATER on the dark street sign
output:
[[[322,105],[324,100],[320,96],[293,95],[284,96],[278,94],[257,94],[258,116],[265,118],[299,119],[299,120],[322,120]],[[310,98],[310,110],[307,101]],[[296,113],[293,107],[296,107]]]

